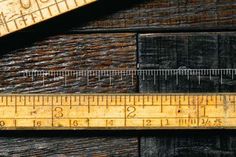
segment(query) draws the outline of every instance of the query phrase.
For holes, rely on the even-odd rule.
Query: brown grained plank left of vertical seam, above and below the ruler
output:
[[[34,38],[34,37],[32,37]],[[79,93],[79,92],[135,92],[131,78],[25,78],[19,71],[69,70],[69,69],[126,69],[136,68],[136,35],[116,34],[74,34],[58,35],[42,40],[10,42],[1,44],[0,92],[1,93]],[[10,40],[11,41],[11,40]],[[50,132],[50,131],[49,131]],[[138,156],[138,138],[115,135],[102,137],[98,132],[59,132],[56,136],[44,137],[45,132],[23,132],[0,136],[0,156]],[[31,136],[28,136],[31,134]],[[46,132],[48,134],[48,132]],[[70,134],[70,136],[68,136]],[[88,137],[86,137],[88,136]]]

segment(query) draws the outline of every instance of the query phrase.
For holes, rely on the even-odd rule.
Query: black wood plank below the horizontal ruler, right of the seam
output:
[[[142,157],[234,157],[236,153],[234,131],[153,131],[150,134],[141,138]]]

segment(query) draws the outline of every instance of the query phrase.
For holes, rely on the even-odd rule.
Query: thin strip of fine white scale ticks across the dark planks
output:
[[[197,80],[197,84],[201,85],[202,79],[208,78],[212,80],[214,77],[219,78],[219,83],[224,84],[224,78],[234,80],[236,78],[236,69],[105,69],[105,70],[25,70],[18,73],[22,77],[31,77],[32,81],[36,78],[41,78],[43,82],[48,79],[57,79],[63,77],[65,84],[69,77],[82,77],[89,84],[90,78],[95,77],[97,81],[101,78],[112,81],[124,78],[130,78],[131,83],[134,79],[140,78],[143,81],[148,81],[149,84],[158,85],[158,78],[163,81],[171,78],[176,84],[179,84],[180,78],[185,78],[186,81]],[[44,84],[44,83],[43,83]]]

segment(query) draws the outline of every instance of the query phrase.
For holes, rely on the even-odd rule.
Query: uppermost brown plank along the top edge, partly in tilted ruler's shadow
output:
[[[26,32],[229,31],[235,14],[234,0],[100,0]]]

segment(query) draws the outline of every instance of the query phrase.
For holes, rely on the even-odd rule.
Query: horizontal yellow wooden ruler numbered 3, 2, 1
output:
[[[235,128],[235,94],[0,95],[1,129]]]

